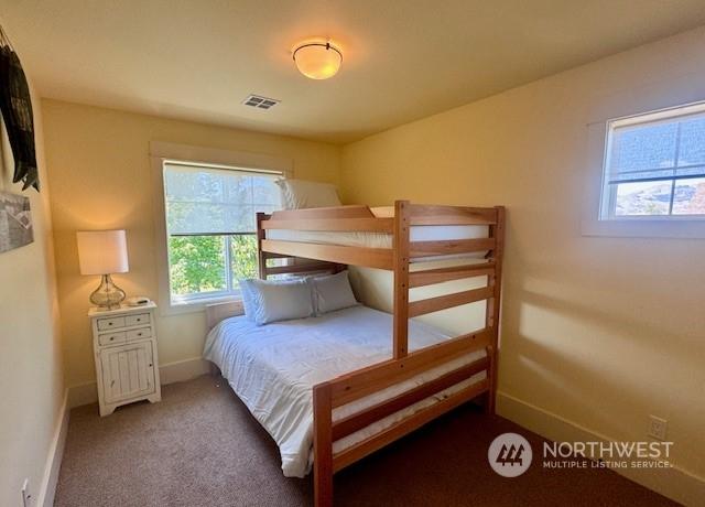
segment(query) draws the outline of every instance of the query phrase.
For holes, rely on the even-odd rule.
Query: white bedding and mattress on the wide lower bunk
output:
[[[313,460],[314,385],[391,357],[392,316],[366,306],[318,317],[257,326],[245,316],[223,321],[208,334],[204,357],[215,363],[252,416],[279,445],[282,471],[303,477]],[[448,339],[441,331],[410,321],[409,348],[414,350]],[[334,410],[333,419],[355,413],[414,386],[485,356],[485,350],[448,364]],[[334,444],[346,449],[398,420],[485,378],[480,371],[431,398],[378,421]]]

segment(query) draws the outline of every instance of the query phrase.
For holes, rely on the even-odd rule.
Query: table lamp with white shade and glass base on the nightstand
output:
[[[110,274],[127,273],[128,248],[124,230],[89,230],[76,233],[80,274],[100,274],[100,285],[90,302],[101,310],[120,306],[124,291],[112,283]]]

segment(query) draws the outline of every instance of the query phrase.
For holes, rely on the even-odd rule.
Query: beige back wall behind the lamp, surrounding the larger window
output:
[[[69,387],[95,381],[86,311],[98,279],[78,272],[76,230],[127,229],[130,272],[115,281],[129,294],[159,296],[152,199],[161,188],[152,186],[150,141],[288,158],[296,177],[338,183],[340,149],[330,144],[54,100],[42,111]],[[163,316],[158,326],[162,365],[200,357],[203,313]]]

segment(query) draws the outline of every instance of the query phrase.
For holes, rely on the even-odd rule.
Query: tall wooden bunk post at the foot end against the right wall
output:
[[[492,252],[495,272],[489,276],[488,284],[492,288],[492,296],[487,300],[485,325],[491,330],[491,345],[487,347],[490,359],[488,369],[489,391],[487,392],[486,411],[495,413],[497,395],[497,360],[499,350],[499,306],[502,290],[502,256],[505,254],[505,207],[496,206],[497,225],[490,226],[490,237],[495,238],[496,246]]]

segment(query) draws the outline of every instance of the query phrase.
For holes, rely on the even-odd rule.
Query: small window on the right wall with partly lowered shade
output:
[[[600,219],[705,218],[705,104],[607,123]]]

